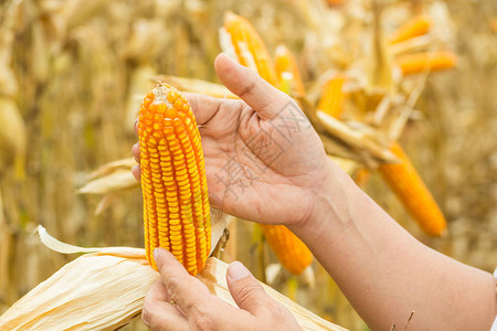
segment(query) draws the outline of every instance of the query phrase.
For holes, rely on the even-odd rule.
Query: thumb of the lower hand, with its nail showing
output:
[[[231,296],[241,309],[256,316],[273,303],[257,279],[240,261],[228,267],[226,280]]]

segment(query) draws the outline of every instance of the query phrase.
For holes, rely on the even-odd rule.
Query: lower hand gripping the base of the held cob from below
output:
[[[300,330],[292,313],[266,295],[239,261],[228,287],[240,308],[211,295],[168,250],[154,252],[161,278],[145,297],[141,319],[152,330]],[[172,302],[172,303],[171,303]]]

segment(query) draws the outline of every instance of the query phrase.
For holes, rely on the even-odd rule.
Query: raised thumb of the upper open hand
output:
[[[224,53],[218,55],[214,67],[224,86],[257,111],[261,118],[273,118],[292,100],[257,73],[235,63]]]

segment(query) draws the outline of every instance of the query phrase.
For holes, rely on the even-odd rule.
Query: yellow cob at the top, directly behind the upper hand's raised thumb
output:
[[[229,11],[224,15],[224,30],[231,38],[240,64],[255,70],[269,84],[278,86],[273,60],[254,26],[245,18]]]

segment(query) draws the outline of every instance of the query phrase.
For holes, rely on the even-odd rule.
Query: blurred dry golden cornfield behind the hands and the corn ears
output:
[[[423,81],[401,136],[447,218],[447,234],[424,235],[374,171],[363,189],[426,245],[493,271],[496,1],[11,0],[0,2],[0,313],[75,257],[45,248],[33,235],[39,224],[75,245],[144,246],[138,189],[104,197],[78,189],[99,166],[130,157],[133,122],[150,78],[219,82],[213,61],[226,10],[247,18],[271,53],[287,45],[313,90],[322,73],[371,61],[353,31],[372,33],[372,4],[383,9],[385,34],[429,12],[458,57],[456,68]],[[263,278],[275,259],[260,233],[244,221],[231,233],[223,259],[240,259]],[[367,330],[314,267],[314,287],[289,275],[274,287],[337,324]],[[144,329],[140,321],[126,328]]]

